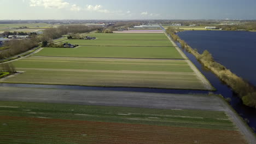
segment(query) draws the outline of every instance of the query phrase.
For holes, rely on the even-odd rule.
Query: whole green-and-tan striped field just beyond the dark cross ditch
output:
[[[30,57],[14,65],[26,72],[2,82],[207,89],[183,60]]]

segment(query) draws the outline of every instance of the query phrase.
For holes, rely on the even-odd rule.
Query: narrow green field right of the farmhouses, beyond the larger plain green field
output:
[[[70,43],[73,45],[97,45],[97,46],[173,46],[170,40],[67,40],[59,44]]]

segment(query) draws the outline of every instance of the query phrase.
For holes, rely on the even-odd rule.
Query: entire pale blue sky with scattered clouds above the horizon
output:
[[[0,20],[256,20],[256,0],[0,0]]]

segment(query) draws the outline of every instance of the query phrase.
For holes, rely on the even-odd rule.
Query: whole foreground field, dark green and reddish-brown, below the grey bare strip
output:
[[[246,143],[223,111],[0,101],[0,143]]]

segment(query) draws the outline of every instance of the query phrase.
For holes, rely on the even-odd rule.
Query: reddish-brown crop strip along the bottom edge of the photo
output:
[[[12,139],[18,138],[20,141],[32,139],[60,142],[69,140],[76,143],[125,144],[246,143],[238,131],[0,116],[0,122],[7,125],[8,123],[15,125],[15,122],[20,121],[26,123],[24,129],[20,126],[12,127],[14,131],[3,131],[0,134],[1,139],[8,141],[11,137]]]

